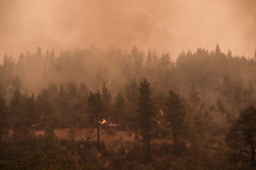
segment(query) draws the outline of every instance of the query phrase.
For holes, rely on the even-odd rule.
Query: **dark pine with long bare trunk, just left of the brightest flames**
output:
[[[100,91],[93,93],[89,91],[89,97],[87,100],[87,111],[92,118],[96,119],[97,124],[97,136],[98,145],[100,144],[100,133],[99,133],[99,118],[102,118],[103,102]]]

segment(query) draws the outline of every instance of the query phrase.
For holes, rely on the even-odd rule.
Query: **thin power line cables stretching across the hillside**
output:
[[[124,135],[145,135],[145,134],[158,134],[158,133],[182,133],[182,132],[194,132],[194,131],[212,131],[212,130],[229,130],[229,129],[249,129],[256,128],[256,125],[244,125],[244,126],[233,126],[233,127],[211,127],[211,128],[186,128],[186,129],[169,129],[169,130],[155,130],[155,131],[141,131],[135,132],[119,132],[119,133],[103,133],[100,137],[108,136],[124,136]],[[36,140],[54,140],[54,139],[71,139],[71,138],[88,138],[97,137],[97,134],[86,134],[86,135],[73,135],[73,136],[53,136],[53,137],[30,137],[30,138],[13,138],[1,140],[1,142],[21,142],[21,141],[36,141]]]

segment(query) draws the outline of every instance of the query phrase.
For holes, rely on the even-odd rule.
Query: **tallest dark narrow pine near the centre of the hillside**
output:
[[[157,112],[155,111],[154,102],[151,99],[150,83],[146,79],[143,79],[143,82],[140,83],[139,89],[139,101],[137,102],[137,112],[138,112],[138,127],[144,131],[149,132],[155,126],[154,117]],[[148,153],[150,154],[150,134],[143,134],[144,139],[147,140]]]

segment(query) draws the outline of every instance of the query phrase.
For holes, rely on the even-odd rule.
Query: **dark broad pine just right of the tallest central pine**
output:
[[[169,126],[174,130],[184,128],[186,113],[180,95],[174,93],[173,90],[168,92],[169,96],[165,102],[164,119],[170,123]],[[176,143],[177,133],[173,133],[173,136]]]

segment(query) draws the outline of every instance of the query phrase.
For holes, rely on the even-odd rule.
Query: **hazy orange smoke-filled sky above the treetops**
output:
[[[0,57],[49,48],[221,50],[253,56],[254,0],[0,0]],[[1,59],[0,58],[0,59]]]

